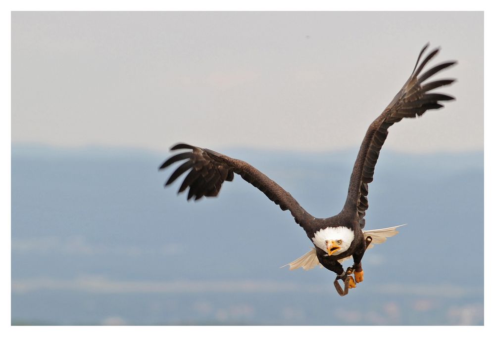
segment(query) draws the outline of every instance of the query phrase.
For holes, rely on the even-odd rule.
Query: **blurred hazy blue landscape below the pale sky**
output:
[[[214,150],[318,217],[342,209],[357,154]],[[180,182],[163,189],[168,156],[12,145],[13,321],[483,324],[483,278],[465,276],[483,270],[483,152],[381,151],[366,228],[407,226],[365,254],[365,281],[345,300],[325,269],[279,268],[311,247],[289,212],[237,175],[218,198],[188,203]],[[328,317],[316,294],[342,310]]]

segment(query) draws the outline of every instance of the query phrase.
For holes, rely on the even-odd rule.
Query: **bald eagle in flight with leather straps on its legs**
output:
[[[305,211],[289,192],[248,163],[184,143],[176,144],[170,150],[190,151],[171,156],[159,168],[165,169],[173,163],[185,160],[172,173],[165,186],[189,170],[178,193],[184,192],[189,187],[187,199],[198,200],[202,197],[217,196],[222,183],[232,181],[234,173],[239,174],[279,205],[283,211],[289,210],[314,245],[310,252],[289,263],[290,269],[302,267],[307,270],[316,265],[323,266],[337,274],[334,281],[336,289],[340,295],[346,295],[348,288],[355,288],[356,283],[363,281],[361,259],[366,249],[372,242],[383,243],[388,237],[395,235],[396,228],[399,227],[364,230],[364,216],[368,209],[368,184],[373,181],[375,165],[387,138],[388,128],[403,118],[419,117],[427,110],[440,109],[443,105],[439,102],[454,99],[431,90],[452,84],[455,80],[444,79],[425,83],[439,71],[456,63],[455,61],[441,63],[422,72],[426,64],[439,52],[439,48],[434,49],[420,63],[428,46],[429,44],[426,44],[421,50],[409,79],[366,131],[352,169],[344,208],[337,215],[316,218]],[[342,262],[350,257],[353,258],[354,263],[344,271]],[[351,276],[352,274],[354,277]],[[338,280],[344,281],[345,292],[339,291]]]

